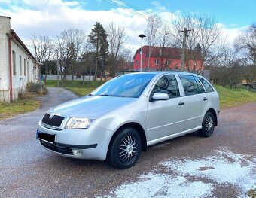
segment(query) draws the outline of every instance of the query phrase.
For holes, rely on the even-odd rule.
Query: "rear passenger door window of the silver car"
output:
[[[178,75],[178,77],[181,79],[186,96],[205,92],[202,84],[193,75]]]

